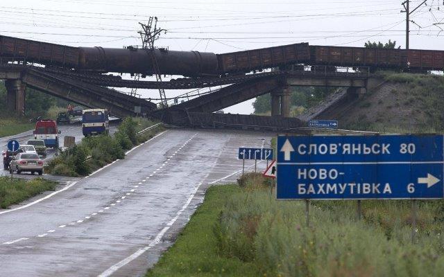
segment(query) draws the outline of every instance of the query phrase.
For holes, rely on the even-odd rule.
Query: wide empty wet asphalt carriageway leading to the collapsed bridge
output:
[[[143,276],[203,201],[205,188],[237,179],[237,149],[268,146],[270,139],[170,129],[48,199],[0,210],[1,276]],[[246,168],[253,170],[254,161]]]

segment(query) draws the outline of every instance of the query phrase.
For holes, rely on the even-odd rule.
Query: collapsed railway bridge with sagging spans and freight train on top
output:
[[[157,60],[155,70],[153,58]],[[353,68],[337,71],[336,66]],[[118,117],[144,114],[174,125],[289,129],[289,87],[346,87],[365,93],[377,86],[375,68],[442,70],[444,51],[309,46],[307,43],[214,54],[167,49],[71,47],[0,36],[0,79],[8,109],[23,114],[25,88],[32,87],[85,107],[103,107]],[[266,70],[266,69],[271,69]],[[156,72],[159,71],[159,72]],[[105,73],[182,75],[169,82],[124,80]],[[187,102],[157,109],[142,98],[109,87],[193,89],[224,86]],[[271,93],[271,116],[216,114]]]

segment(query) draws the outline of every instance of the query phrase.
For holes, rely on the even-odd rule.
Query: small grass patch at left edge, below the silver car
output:
[[[42,178],[11,180],[10,177],[0,177],[0,207],[8,208],[46,190],[54,190],[56,185],[56,182]]]

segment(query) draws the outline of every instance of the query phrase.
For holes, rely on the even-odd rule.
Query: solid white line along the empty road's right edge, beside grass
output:
[[[162,240],[162,237],[164,236],[165,233],[167,233],[167,231],[171,228],[171,226],[174,224],[174,222],[176,222],[176,220],[178,220],[180,214],[185,211],[185,209],[189,206],[189,203],[191,203],[191,200],[193,199],[194,195],[196,195],[196,192],[198,191],[198,188],[200,188],[200,185],[202,183],[199,183],[198,186],[196,186],[196,188],[194,189],[194,192],[189,196],[187,202],[185,203],[185,205],[182,206],[182,208],[178,211],[178,213],[176,213],[176,216],[173,217],[172,220],[170,220],[167,223],[167,226],[164,227],[164,229],[162,229],[162,231],[160,231],[160,233],[158,233],[153,242],[151,242],[150,244],[148,244],[147,247],[141,248],[139,250],[137,250],[135,253],[133,253],[132,255],[128,256],[127,258],[121,260],[120,262],[117,262],[117,264],[112,265],[112,267],[110,267],[109,269],[106,269],[105,271],[103,271],[99,277],[108,277],[111,276],[112,274],[114,274],[114,272],[116,272],[117,270],[119,270],[121,267],[125,266],[128,264],[128,262],[131,262],[133,260],[135,260],[136,258],[138,258],[140,255],[142,255],[143,253],[145,253],[148,249],[150,249],[151,247],[154,247],[156,244],[158,244],[160,242],[160,240]]]

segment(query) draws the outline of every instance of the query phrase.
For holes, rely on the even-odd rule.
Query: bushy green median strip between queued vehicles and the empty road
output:
[[[125,118],[114,135],[84,138],[81,143],[51,160],[45,172],[71,177],[89,175],[112,161],[124,159],[126,150],[148,141],[163,129],[159,126],[143,134],[137,134],[154,124],[144,118]]]

